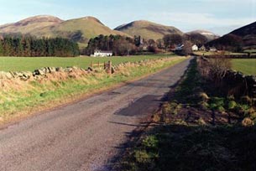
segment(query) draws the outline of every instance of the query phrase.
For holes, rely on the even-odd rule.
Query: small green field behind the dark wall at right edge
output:
[[[234,59],[232,69],[243,72],[245,75],[256,75],[256,59]]]

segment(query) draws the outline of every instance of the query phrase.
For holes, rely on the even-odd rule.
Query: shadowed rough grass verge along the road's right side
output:
[[[235,113],[248,104],[207,96],[201,92],[205,84],[194,60],[171,101],[163,104],[152,127],[128,149],[117,167],[127,171],[255,170],[256,127],[252,120],[256,116],[245,116],[256,114],[254,109]]]

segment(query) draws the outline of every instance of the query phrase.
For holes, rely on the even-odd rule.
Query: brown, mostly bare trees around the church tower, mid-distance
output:
[[[93,54],[96,49],[110,50],[113,55],[158,53],[170,51],[176,46],[184,44],[184,48],[180,54],[186,55],[191,53],[192,44],[199,46],[206,44],[207,39],[201,34],[166,34],[162,39],[143,39],[141,36],[125,37],[121,35],[99,35],[90,39],[86,49],[82,50],[82,54]]]

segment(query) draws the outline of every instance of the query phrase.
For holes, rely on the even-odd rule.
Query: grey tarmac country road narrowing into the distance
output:
[[[145,126],[190,61],[0,130],[0,170],[110,170],[128,134]]]

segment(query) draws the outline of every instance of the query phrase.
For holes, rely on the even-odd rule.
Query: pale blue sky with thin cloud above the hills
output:
[[[35,15],[93,16],[111,29],[135,20],[227,34],[256,21],[256,0],[0,0],[0,24]]]

